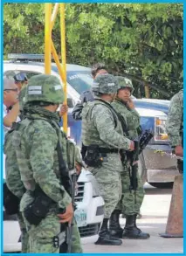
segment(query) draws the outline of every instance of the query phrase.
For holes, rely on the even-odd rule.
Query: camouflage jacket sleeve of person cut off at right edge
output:
[[[182,145],[183,135],[183,90],[170,100],[166,130],[172,147]]]

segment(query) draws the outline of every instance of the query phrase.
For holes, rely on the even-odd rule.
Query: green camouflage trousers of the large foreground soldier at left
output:
[[[50,211],[37,226],[30,225],[25,218],[24,223],[29,234],[30,253],[59,253],[59,248],[53,246],[52,240],[60,233],[59,218],[56,212]],[[60,239],[65,239],[65,232],[61,233]],[[75,221],[72,227],[72,253],[83,253],[79,229]]]

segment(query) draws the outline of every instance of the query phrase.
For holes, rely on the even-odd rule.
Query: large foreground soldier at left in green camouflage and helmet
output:
[[[60,223],[72,221],[72,253],[82,253],[79,230],[72,220],[72,199],[59,182],[58,142],[66,160],[66,139],[59,128],[59,114],[56,113],[62,101],[63,90],[56,77],[32,77],[26,86],[26,115],[14,138],[18,169],[26,189],[20,211],[29,234],[29,253],[59,253],[59,246],[54,246],[53,238],[60,233],[60,240],[65,239],[65,230],[60,232]],[[33,225],[26,218],[25,209],[27,213],[30,211],[29,205],[34,204],[38,197],[37,190],[45,194],[51,204],[45,218]],[[61,209],[65,209],[65,213],[62,214]]]

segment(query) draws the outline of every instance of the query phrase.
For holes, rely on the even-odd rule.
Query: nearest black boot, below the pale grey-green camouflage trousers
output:
[[[110,232],[107,228],[108,218],[103,219],[103,223],[100,228],[99,238],[95,242],[95,245],[100,246],[121,246],[121,239],[116,239],[111,236]]]

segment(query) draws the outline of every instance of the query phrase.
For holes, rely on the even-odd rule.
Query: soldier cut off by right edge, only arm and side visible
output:
[[[166,130],[176,156],[183,157],[183,89],[170,100]],[[177,168],[183,173],[183,161],[177,160]]]

